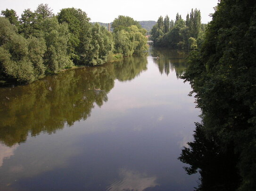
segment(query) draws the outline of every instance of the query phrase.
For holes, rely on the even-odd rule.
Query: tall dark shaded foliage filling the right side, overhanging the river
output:
[[[180,160],[198,169],[202,191],[256,190],[256,2],[221,0],[189,81],[202,123]]]

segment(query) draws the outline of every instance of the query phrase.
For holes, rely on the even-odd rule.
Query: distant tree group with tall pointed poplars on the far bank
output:
[[[200,10],[191,10],[186,20],[177,13],[175,21],[160,16],[151,30],[154,46],[172,49],[196,49],[202,44],[206,24],[201,23]]]

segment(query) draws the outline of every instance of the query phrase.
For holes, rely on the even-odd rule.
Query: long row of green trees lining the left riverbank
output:
[[[35,11],[25,9],[21,18],[13,9],[1,14],[0,81],[30,83],[74,65],[101,65],[148,48],[146,30],[128,16],[118,16],[110,33],[77,8],[54,15],[40,4]]]

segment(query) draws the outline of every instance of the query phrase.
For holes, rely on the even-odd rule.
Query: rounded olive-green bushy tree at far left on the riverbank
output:
[[[2,34],[8,35],[1,40],[0,76],[4,80],[33,82],[44,76],[45,67],[42,57],[45,53],[43,39],[26,39],[17,34],[17,29],[5,18],[0,18]]]

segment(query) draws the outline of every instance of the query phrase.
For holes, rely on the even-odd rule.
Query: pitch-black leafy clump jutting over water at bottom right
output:
[[[196,191],[235,191],[240,184],[240,176],[233,144],[223,150],[217,136],[206,135],[200,123],[196,123],[194,132],[195,140],[188,143],[190,147],[184,147],[179,160],[190,165],[184,167],[189,175],[197,171],[200,173]]]

